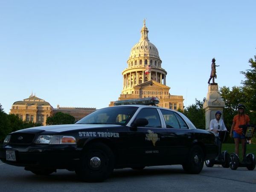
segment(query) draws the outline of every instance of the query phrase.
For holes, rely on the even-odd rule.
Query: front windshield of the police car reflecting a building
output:
[[[133,116],[137,107],[111,107],[103,108],[76,122],[76,124],[114,124],[125,125]]]

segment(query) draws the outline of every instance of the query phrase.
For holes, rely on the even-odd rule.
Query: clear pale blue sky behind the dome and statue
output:
[[[54,108],[107,107],[122,70],[148,37],[184,105],[203,100],[212,58],[219,87],[240,86],[256,55],[255,0],[0,0],[0,104],[31,92]]]

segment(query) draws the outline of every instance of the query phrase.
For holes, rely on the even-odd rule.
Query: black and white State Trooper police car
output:
[[[181,164],[198,174],[204,160],[218,154],[214,135],[157,103],[154,97],[117,101],[73,125],[15,131],[5,138],[0,160],[36,175],[67,169],[89,182],[105,180],[113,169],[145,166]]]

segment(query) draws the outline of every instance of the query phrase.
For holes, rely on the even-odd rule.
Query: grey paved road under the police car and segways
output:
[[[186,174],[182,166],[146,167],[142,171],[116,169],[102,183],[83,183],[75,172],[57,170],[49,176],[38,176],[22,167],[0,161],[0,191],[3,192],[241,192],[256,190],[256,169],[236,171],[221,166],[204,166],[198,175]]]

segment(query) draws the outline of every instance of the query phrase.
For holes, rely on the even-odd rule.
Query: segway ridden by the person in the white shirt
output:
[[[218,131],[218,137],[221,140],[221,146],[222,143],[224,143],[225,141],[227,141],[227,137],[229,135],[228,131]],[[218,156],[215,159],[211,159],[211,160],[205,160],[204,163],[207,167],[212,167],[214,165],[221,165],[224,168],[228,168],[229,167],[229,157],[230,155],[228,154],[227,151],[222,151],[221,152],[221,146],[218,149]]]

